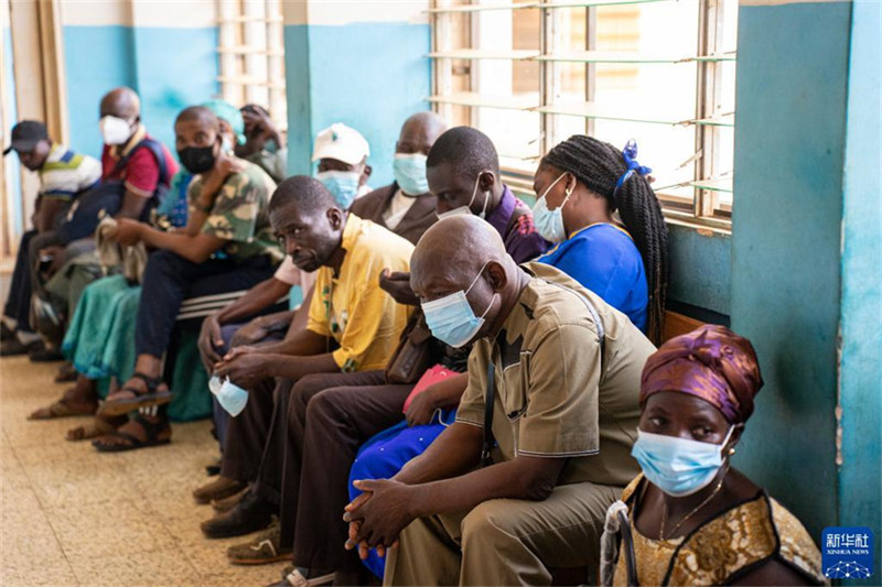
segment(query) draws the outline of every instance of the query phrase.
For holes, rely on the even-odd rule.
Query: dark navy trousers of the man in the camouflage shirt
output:
[[[185,297],[248,290],[272,274],[272,262],[266,256],[245,261],[209,259],[194,263],[171,251],[152,253],[144,269],[138,305],[136,352],[162,357]]]

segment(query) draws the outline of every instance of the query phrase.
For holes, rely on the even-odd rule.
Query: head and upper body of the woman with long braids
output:
[[[598,293],[658,345],[668,232],[647,178],[652,170],[636,157],[633,140],[620,151],[592,137],[570,137],[536,171],[533,216],[539,233],[558,243],[538,260]]]

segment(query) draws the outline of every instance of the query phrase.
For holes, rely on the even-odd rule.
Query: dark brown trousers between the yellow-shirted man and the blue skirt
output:
[[[266,380],[249,390],[227,428],[222,475],[254,482],[256,494],[279,506],[281,544],[294,544],[295,565],[359,568],[357,554],[343,547],[349,469],[362,444],[401,421],[412,389],[366,371]]]

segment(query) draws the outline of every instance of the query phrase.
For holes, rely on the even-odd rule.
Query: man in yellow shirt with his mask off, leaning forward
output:
[[[378,372],[408,318],[408,308],[379,287],[379,273],[408,270],[409,241],[341,209],[321,182],[306,176],[279,185],[270,221],[294,264],[318,270],[315,294],[306,328],[292,328],[275,345],[237,347],[215,367],[215,377],[249,390],[244,411],[230,420],[220,475],[252,485],[235,508],[202,524],[208,537],[265,528],[279,510],[282,470],[297,469],[299,479],[311,445],[304,443],[310,398],[297,393],[297,381],[314,373]],[[273,417],[290,411],[302,415],[298,425]]]

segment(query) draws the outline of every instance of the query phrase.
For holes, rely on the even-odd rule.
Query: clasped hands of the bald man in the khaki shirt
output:
[[[358,548],[364,561],[370,548],[379,556],[398,545],[398,536],[417,519],[413,512],[413,488],[390,479],[366,479],[353,483],[364,491],[344,509],[343,521],[349,523],[347,551]]]

